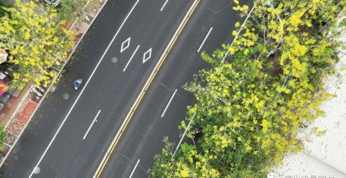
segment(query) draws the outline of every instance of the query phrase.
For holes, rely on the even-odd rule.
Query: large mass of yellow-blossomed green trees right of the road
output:
[[[287,154],[304,149],[300,129],[322,116],[320,103],[332,97],[322,78],[338,61],[342,44],[334,39],[345,1],[254,4],[239,35],[241,24],[235,24],[233,45],[203,53],[212,69],[185,85],[197,99],[186,122],[202,128],[201,138],[183,143],[176,154],[176,145],[164,139],[150,177],[266,177]],[[233,9],[243,17],[250,13],[237,0]]]

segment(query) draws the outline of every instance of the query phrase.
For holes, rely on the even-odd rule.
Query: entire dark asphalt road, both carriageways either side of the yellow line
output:
[[[193,1],[136,2],[107,2],[57,90],[44,100],[1,167],[1,177],[30,177],[37,163],[40,171],[32,177],[93,177]],[[185,118],[186,106],[194,103],[194,97],[181,86],[208,67],[197,53],[200,47],[211,52],[230,41],[230,29],[239,19],[231,3],[201,1],[131,118],[102,177],[129,177],[132,171],[132,177],[147,177],[145,170],[161,150],[163,136],[179,141],[177,126]],[[84,89],[73,90],[76,78],[84,78]]]

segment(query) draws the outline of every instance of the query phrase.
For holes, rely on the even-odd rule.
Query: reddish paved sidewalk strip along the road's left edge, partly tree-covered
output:
[[[84,6],[86,12],[81,16],[83,18],[80,20],[75,19],[75,21],[67,21],[63,26],[63,28],[72,30],[75,35],[75,47],[69,51],[69,57],[64,66],[67,64],[67,62],[69,62],[75,48],[77,48],[78,44],[82,40],[82,37],[89,29],[91,24],[93,24],[95,17],[97,17],[105,3],[107,3],[107,1],[102,1],[102,3],[100,3],[100,1],[89,0],[88,3],[86,3],[86,6]],[[60,72],[62,69],[60,69]],[[30,82],[21,91],[15,91],[17,94],[11,96],[8,103],[0,112],[0,125],[4,125],[3,148],[0,150],[0,167],[6,160],[8,154],[10,154],[10,151],[14,145],[17,143],[21,133],[23,133],[26,129],[31,117],[39,107],[39,104],[45,98],[48,91],[53,92],[55,89],[53,84],[51,84],[51,86],[46,89],[44,96],[37,99],[32,87],[33,83]]]

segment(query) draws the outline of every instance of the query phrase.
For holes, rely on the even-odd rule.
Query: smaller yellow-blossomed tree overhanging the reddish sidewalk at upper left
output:
[[[15,64],[12,84],[24,87],[30,80],[47,87],[66,60],[73,46],[72,32],[60,28],[57,12],[38,1],[21,3],[4,8],[0,18],[0,48],[10,54],[8,62]]]

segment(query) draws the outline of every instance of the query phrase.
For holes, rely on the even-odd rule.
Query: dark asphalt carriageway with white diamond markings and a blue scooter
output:
[[[2,177],[29,177],[37,162],[41,161],[42,154],[62,121],[65,121],[64,125],[39,163],[39,174],[33,177],[65,178],[93,175],[93,168],[98,167],[98,160],[107,150],[122,119],[125,118],[159,55],[167,46],[169,37],[174,34],[174,29],[179,26],[192,1],[174,1],[174,8],[165,12],[160,11],[164,3],[161,0],[141,0],[134,7],[135,3],[136,1],[131,0],[107,2],[76,51],[75,62],[71,69],[67,69],[66,78],[57,86],[57,91],[44,100],[2,166]],[[129,17],[125,21],[127,15]],[[93,73],[123,21],[124,26]],[[129,47],[120,53],[122,42],[129,37]],[[138,45],[140,47],[134,59],[123,72]],[[123,48],[125,46],[126,43]],[[150,48],[151,57],[143,64],[143,54]],[[69,113],[81,92],[73,90],[72,81],[75,78],[84,78],[86,81],[91,73],[93,77]],[[85,84],[86,82],[84,86]],[[69,96],[69,99],[64,100],[63,96]],[[99,110],[102,112],[99,114],[98,122],[91,127],[83,140]],[[67,118],[66,114],[69,114]]]

